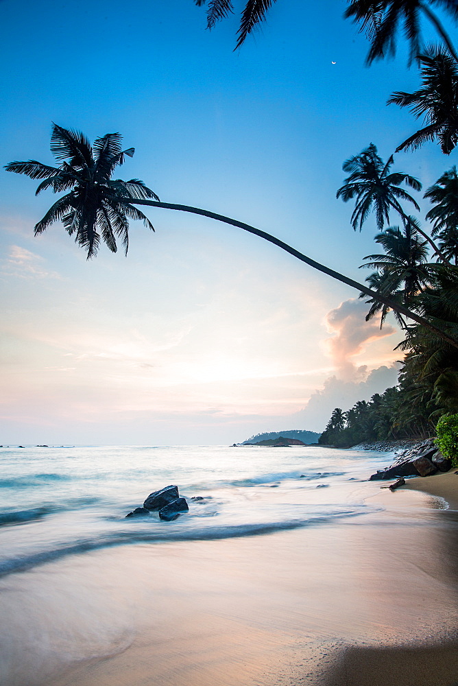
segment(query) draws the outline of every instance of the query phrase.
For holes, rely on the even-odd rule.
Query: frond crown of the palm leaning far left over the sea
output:
[[[43,179],[36,195],[51,188],[54,193],[70,191],[59,198],[35,226],[35,235],[42,233],[53,222],[61,221],[67,232],[75,234],[77,244],[87,250],[88,259],[97,254],[102,239],[112,252],[117,251],[117,238],[128,252],[129,220],[141,220],[154,230],[148,218],[130,200],[154,198],[156,193],[143,181],[112,179],[125,156],[132,157],[134,148],[122,150],[122,136],[109,133],[94,141],[93,145],[78,132],[53,124],[51,152],[60,163],[49,167],[35,160],[11,162],[7,171]]]

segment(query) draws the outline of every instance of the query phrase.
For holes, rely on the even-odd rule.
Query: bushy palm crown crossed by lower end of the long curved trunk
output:
[[[429,268],[426,266],[428,250],[426,241],[420,241],[413,218],[401,231],[398,226],[387,228],[375,237],[376,243],[385,250],[383,255],[367,255],[368,260],[361,267],[376,269],[365,280],[374,290],[384,293],[387,297],[402,303],[407,307],[415,307],[415,296],[431,283]],[[360,298],[364,298],[361,294]],[[367,300],[371,308],[366,321],[381,312],[382,328],[385,317],[390,308],[380,301]],[[402,329],[407,324],[402,316],[395,312],[396,319]]]

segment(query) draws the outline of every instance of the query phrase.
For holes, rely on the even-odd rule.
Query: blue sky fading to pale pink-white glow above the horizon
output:
[[[119,178],[363,281],[376,226],[352,230],[352,207],[335,198],[341,165],[371,142],[386,159],[416,130],[385,103],[418,75],[402,46],[365,67],[345,7],[278,0],[234,51],[237,16],[209,32],[193,0],[0,0],[1,166],[52,165],[51,122],[92,140],[121,132],[136,152]],[[429,143],[394,169],[426,188],[446,164]],[[127,257],[101,247],[87,261],[59,224],[34,237],[56,200],[36,185],[0,171],[0,443],[320,432],[335,407],[396,384],[402,335],[394,319],[365,322],[354,289],[237,228],[164,209],[145,209],[154,233],[132,222]]]

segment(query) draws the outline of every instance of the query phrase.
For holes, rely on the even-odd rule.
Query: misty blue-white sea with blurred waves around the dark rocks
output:
[[[370,474],[392,453],[325,447],[0,448],[0,575],[128,543],[253,536],[337,523],[379,508]],[[178,486],[171,522],[126,514]],[[196,498],[193,500],[193,498]]]

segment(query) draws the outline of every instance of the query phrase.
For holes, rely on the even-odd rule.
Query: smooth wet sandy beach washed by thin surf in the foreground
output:
[[[349,485],[366,498],[365,514],[108,546],[3,576],[2,683],[453,686],[458,475],[409,480],[394,493],[337,478],[287,499],[329,500]],[[265,493],[272,507],[286,499],[281,483]]]

